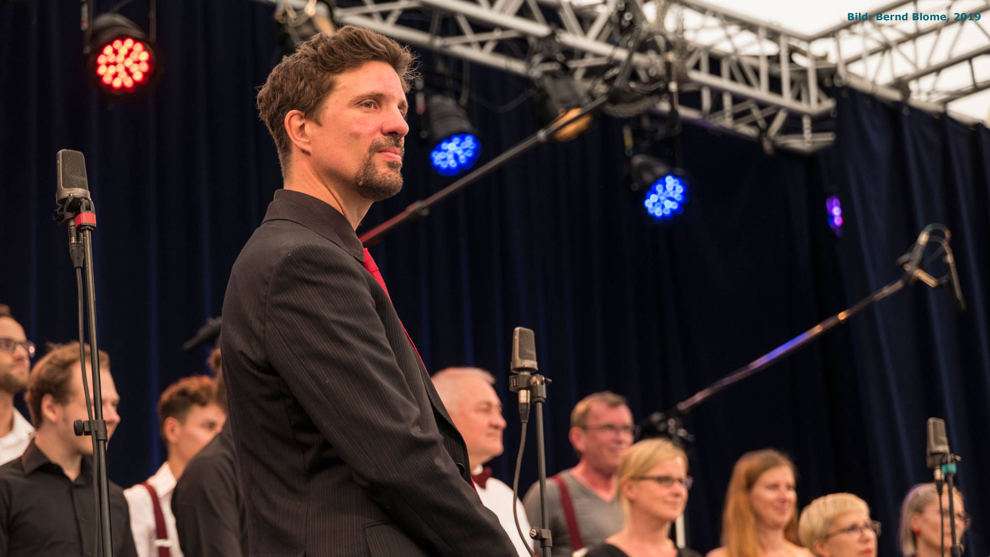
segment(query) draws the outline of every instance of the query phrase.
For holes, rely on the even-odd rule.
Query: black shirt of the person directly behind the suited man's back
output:
[[[231,420],[186,465],[172,492],[172,514],[185,557],[247,555],[247,520],[234,460]]]

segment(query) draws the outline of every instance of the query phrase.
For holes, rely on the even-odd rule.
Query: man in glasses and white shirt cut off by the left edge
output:
[[[0,303],[0,464],[24,453],[35,428],[14,407],[14,395],[28,387],[35,345],[14,319],[10,307]]]

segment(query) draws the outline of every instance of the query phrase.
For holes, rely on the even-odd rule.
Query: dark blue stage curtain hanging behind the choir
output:
[[[144,24],[144,8],[123,12]],[[123,397],[110,443],[111,478],[122,485],[160,464],[157,394],[204,373],[207,350],[179,347],[220,312],[230,268],[280,184],[253,106],[277,59],[270,7],[182,0],[158,9],[165,77],[143,100],[110,103],[83,76],[77,6],[0,4],[0,301],[39,344],[75,337],[67,241],[49,214],[55,152],[82,151],[99,219],[99,340]],[[538,124],[529,101],[505,114],[483,108],[527,83],[470,70],[484,162]],[[553,380],[553,472],[575,463],[568,415],[583,395],[624,393],[638,419],[667,408],[897,278],[896,258],[938,221],[953,233],[967,312],[953,311],[948,291],[917,285],[691,413],[691,543],[718,545],[733,463],[773,446],[797,462],[801,505],[858,494],[884,523],[882,553],[894,555],[900,500],[931,477],[925,420],[942,416],[964,459],[959,481],[974,519],[966,554],[987,554],[990,503],[979,495],[990,484],[978,471],[990,462],[990,133],[834,94],[839,139],[814,157],[768,158],[755,144],[686,127],[692,199],[671,222],[645,216],[626,186],[623,122],[601,118],[584,138],[537,148],[373,249],[429,369],[496,375],[509,416],[497,477],[511,481],[519,443],[507,386],[513,327],[536,331]],[[406,186],[361,230],[449,183],[427,167],[411,124]],[[826,223],[834,192],[841,238]],[[524,490],[536,478],[533,435],[527,454]]]

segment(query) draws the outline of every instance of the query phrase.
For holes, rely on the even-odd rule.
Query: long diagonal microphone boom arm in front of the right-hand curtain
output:
[[[930,225],[930,227],[940,227],[944,229],[941,225]],[[940,253],[945,251],[945,244],[940,243],[940,249],[933,255],[926,264],[934,261]],[[677,444],[681,445],[683,442],[691,442],[694,440],[694,436],[684,429],[684,417],[696,408],[699,404],[708,400],[718,392],[722,390],[729,389],[730,387],[740,383],[749,376],[755,375],[764,369],[768,368],[771,364],[774,364],[783,357],[795,352],[799,348],[807,345],[818,337],[822,336],[829,330],[833,329],[837,325],[845,323],[849,317],[859,313],[866,307],[872,305],[881,299],[899,292],[905,286],[910,286],[914,283],[915,279],[921,280],[925,284],[931,286],[932,288],[938,288],[942,285],[951,282],[951,278],[948,276],[942,278],[933,278],[931,275],[926,273],[922,267],[924,266],[914,266],[912,267],[908,260],[911,258],[911,252],[905,254],[898,260],[899,265],[908,271],[908,273],[903,274],[897,280],[890,282],[889,284],[883,286],[882,288],[874,291],[868,296],[862,298],[856,303],[852,304],[850,307],[843,309],[839,313],[825,319],[821,323],[815,325],[814,327],[808,329],[807,331],[801,333],[800,335],[792,338],[791,340],[785,342],[784,344],[774,348],[770,352],[760,356],[759,358],[749,362],[742,368],[736,370],[735,372],[729,374],[728,376],[720,379],[719,381],[709,385],[705,389],[699,390],[689,398],[682,400],[674,405],[674,407],[664,411],[664,412],[653,412],[645,420],[645,425],[651,427],[652,429],[668,436],[671,440]],[[953,262],[954,263],[954,262]],[[948,466],[948,465],[946,465]],[[952,473],[955,472],[955,464],[951,465]],[[951,495],[949,495],[951,498]],[[952,500],[949,499],[949,505],[951,506]],[[951,511],[951,509],[950,509]],[[686,525],[684,524],[684,515],[681,514],[677,518],[677,523],[675,524],[676,533],[676,543],[678,547],[684,547],[686,543]],[[955,517],[952,517],[952,530],[955,530]],[[955,537],[953,535],[953,547],[955,544]],[[958,557],[953,555],[952,557]]]

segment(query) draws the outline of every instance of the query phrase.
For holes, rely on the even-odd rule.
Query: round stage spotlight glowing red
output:
[[[86,9],[91,9],[87,2]],[[115,12],[101,14],[86,29],[86,72],[101,94],[112,99],[137,98],[161,76],[161,51],[155,42],[155,3],[148,6],[149,33]]]

